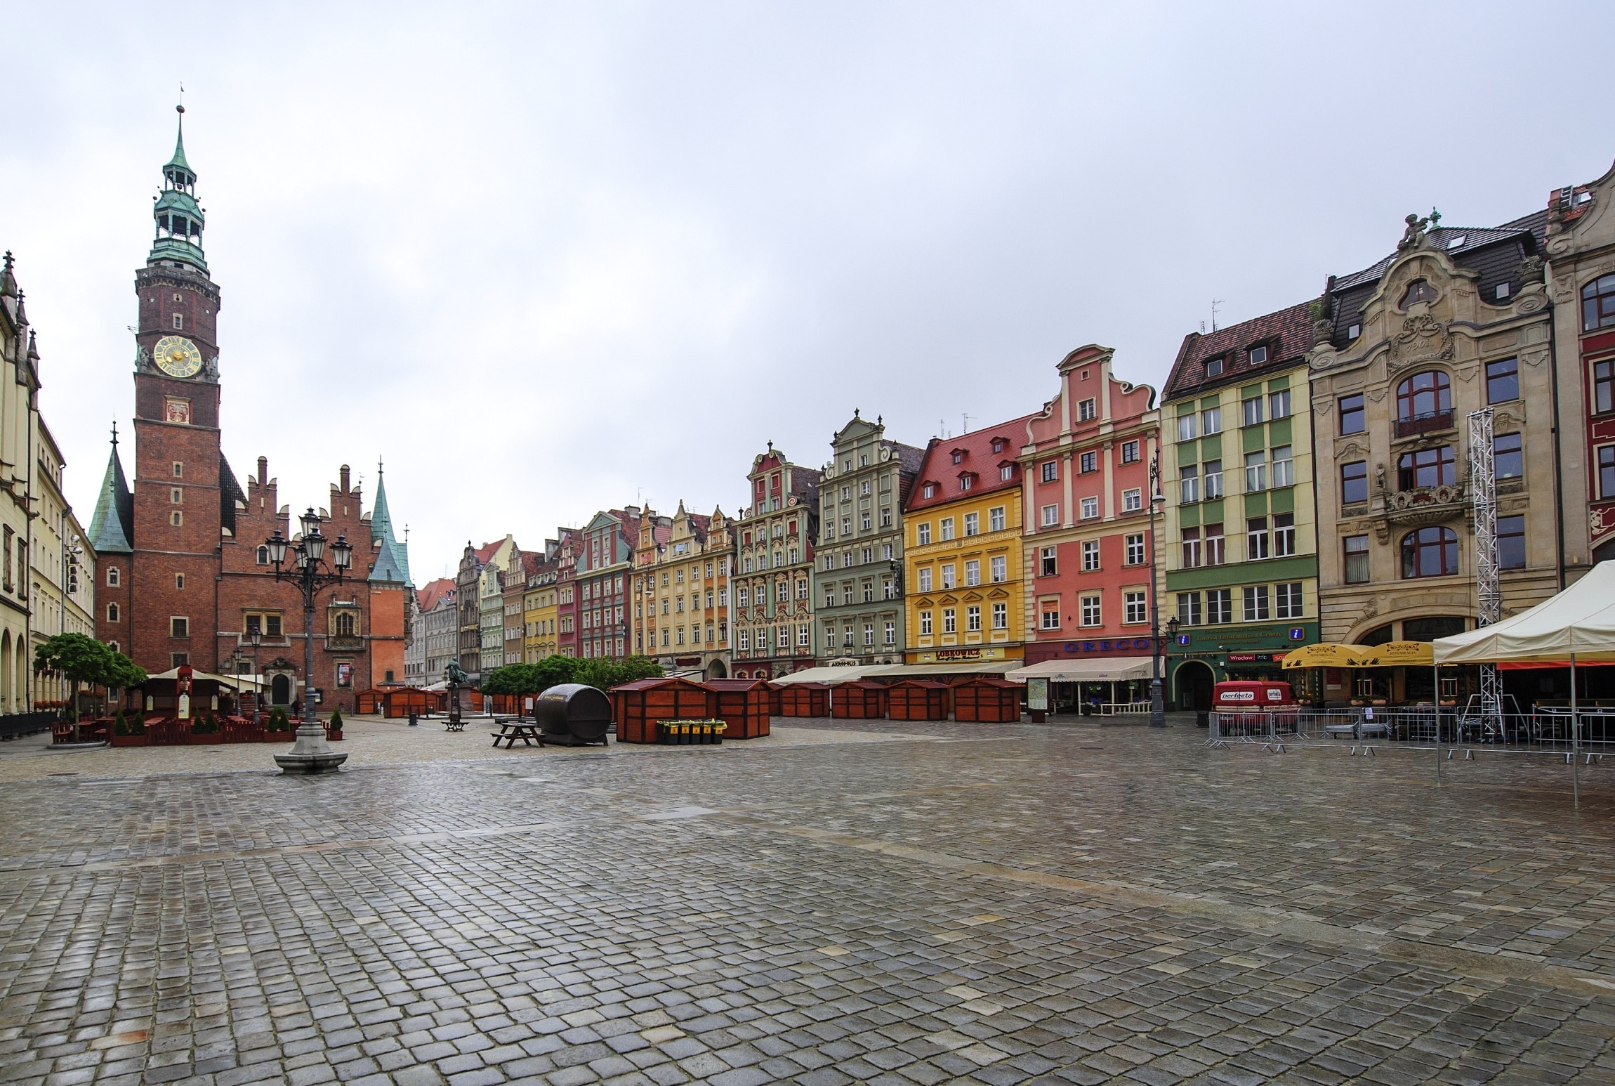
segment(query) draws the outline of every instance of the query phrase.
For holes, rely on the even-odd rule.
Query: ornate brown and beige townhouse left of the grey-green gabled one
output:
[[[814,664],[812,570],[819,472],[774,448],[751,461],[748,504],[735,522],[736,679],[774,679]]]

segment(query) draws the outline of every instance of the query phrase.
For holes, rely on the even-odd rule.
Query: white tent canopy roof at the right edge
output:
[[[1552,600],[1436,640],[1437,664],[1615,661],[1615,561],[1599,562]]]

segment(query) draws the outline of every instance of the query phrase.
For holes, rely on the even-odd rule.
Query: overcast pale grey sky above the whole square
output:
[[[924,444],[1615,158],[1607,3],[15,5],[0,247],[82,520],[186,86],[224,451],[467,538]],[[124,465],[132,470],[132,449]]]

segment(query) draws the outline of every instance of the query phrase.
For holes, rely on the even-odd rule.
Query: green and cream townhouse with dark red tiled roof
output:
[[[1210,708],[1224,679],[1281,679],[1318,640],[1318,528],[1303,302],[1184,338],[1161,407],[1166,698]]]

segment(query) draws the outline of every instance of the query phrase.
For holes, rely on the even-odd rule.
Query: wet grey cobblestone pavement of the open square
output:
[[[1615,763],[816,727],[6,781],[0,1081],[1615,1081]]]

